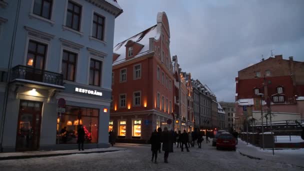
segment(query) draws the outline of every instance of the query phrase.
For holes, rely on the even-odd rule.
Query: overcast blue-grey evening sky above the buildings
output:
[[[117,0],[114,45],[165,11],[170,53],[215,93],[234,101],[237,71],[273,54],[304,61],[304,0]]]

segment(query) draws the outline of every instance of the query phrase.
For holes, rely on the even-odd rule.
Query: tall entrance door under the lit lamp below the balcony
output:
[[[21,100],[16,136],[16,151],[36,150],[39,147],[42,103]]]

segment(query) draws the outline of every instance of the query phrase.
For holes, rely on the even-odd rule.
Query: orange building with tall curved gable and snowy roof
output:
[[[109,130],[117,141],[147,142],[157,127],[173,129],[173,72],[165,12],[155,25],[113,48]]]

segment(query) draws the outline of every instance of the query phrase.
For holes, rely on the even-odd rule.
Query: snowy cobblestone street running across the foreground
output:
[[[0,161],[0,170],[300,170],[291,164],[250,159],[237,151],[216,150],[211,143],[201,149],[181,152],[174,146],[168,162],[163,163],[163,151],[158,163],[152,163],[149,146],[116,145],[127,150],[105,153],[72,154],[66,156]]]

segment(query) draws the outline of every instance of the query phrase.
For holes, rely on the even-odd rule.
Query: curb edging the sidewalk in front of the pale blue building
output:
[[[35,158],[35,157],[36,158],[38,158],[38,157],[50,157],[50,156],[70,155],[70,154],[103,153],[103,152],[114,152],[114,151],[121,151],[121,150],[126,150],[126,149],[113,149],[113,150],[104,150],[104,151],[66,152],[66,153],[53,153],[53,154],[4,156],[4,157],[0,157],[0,160],[25,159],[25,158]]]

